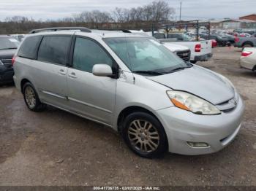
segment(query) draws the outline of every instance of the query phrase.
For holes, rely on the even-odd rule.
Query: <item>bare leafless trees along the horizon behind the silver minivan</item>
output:
[[[34,20],[23,16],[6,17],[0,22],[0,34],[26,34],[34,28],[86,26],[98,29],[144,29],[172,19],[175,9],[166,1],[153,1],[131,9],[116,7],[112,12],[84,11],[59,20]]]

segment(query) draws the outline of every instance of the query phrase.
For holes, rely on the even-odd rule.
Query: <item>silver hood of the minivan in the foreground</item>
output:
[[[235,96],[231,85],[223,81],[213,71],[203,69],[200,66],[147,78],[173,90],[186,91],[197,95],[214,105],[221,104]]]

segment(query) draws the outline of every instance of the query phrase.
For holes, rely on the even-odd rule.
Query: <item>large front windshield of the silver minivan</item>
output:
[[[124,64],[135,73],[160,75],[192,66],[167,50],[155,39],[118,37],[103,40]]]

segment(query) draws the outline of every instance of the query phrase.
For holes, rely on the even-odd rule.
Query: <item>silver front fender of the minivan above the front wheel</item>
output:
[[[140,106],[156,116],[157,110],[173,106],[166,94],[167,90],[170,88],[146,77],[130,72],[121,74],[116,87],[116,112],[113,128],[117,130],[118,115],[129,106]]]

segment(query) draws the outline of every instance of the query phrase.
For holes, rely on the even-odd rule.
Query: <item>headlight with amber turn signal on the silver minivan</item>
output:
[[[180,109],[184,109],[195,114],[221,113],[213,104],[190,93],[175,90],[168,90],[166,93],[170,98],[170,101],[172,101],[173,104]]]

